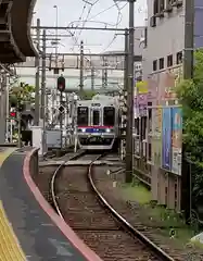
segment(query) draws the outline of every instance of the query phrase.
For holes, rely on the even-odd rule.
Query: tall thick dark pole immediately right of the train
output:
[[[128,74],[128,88],[127,88],[127,129],[126,129],[126,182],[132,181],[134,172],[134,146],[132,146],[132,121],[134,121],[134,10],[135,0],[129,0],[129,74]]]

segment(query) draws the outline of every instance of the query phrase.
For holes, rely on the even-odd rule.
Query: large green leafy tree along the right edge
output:
[[[203,49],[194,53],[193,78],[177,86],[182,104],[183,145],[193,162],[193,195],[203,196]]]

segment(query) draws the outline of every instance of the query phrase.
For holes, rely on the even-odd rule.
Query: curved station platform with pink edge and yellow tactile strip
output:
[[[0,260],[101,261],[35,186],[29,150],[0,148]]]

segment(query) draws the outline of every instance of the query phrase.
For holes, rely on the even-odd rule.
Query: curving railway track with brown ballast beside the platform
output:
[[[104,261],[173,261],[123,219],[98,191],[93,182],[94,161],[102,157],[83,153],[76,158],[91,160],[88,166],[63,169],[62,164],[56,169],[51,178],[51,197],[58,214]]]

